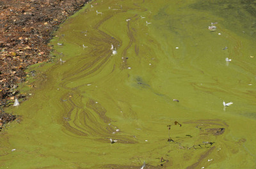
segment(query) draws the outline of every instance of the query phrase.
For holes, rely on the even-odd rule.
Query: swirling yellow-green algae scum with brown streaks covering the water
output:
[[[8,110],[22,121],[1,132],[1,168],[255,168],[254,9],[88,4],[51,41],[56,61],[30,68],[35,88]]]

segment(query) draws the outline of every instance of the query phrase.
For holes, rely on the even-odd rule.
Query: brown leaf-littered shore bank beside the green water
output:
[[[0,129],[15,115],[4,113],[14,99],[25,98],[17,84],[26,80],[24,70],[49,61],[53,32],[67,17],[90,0],[0,1]]]

